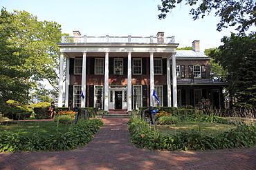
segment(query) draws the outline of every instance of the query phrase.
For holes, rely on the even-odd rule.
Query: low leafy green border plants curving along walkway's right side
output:
[[[128,125],[131,141],[134,145],[151,150],[214,150],[253,147],[256,143],[256,126],[245,123],[215,136],[204,135],[197,131],[177,135],[161,135],[153,131],[141,118],[131,118]]]

